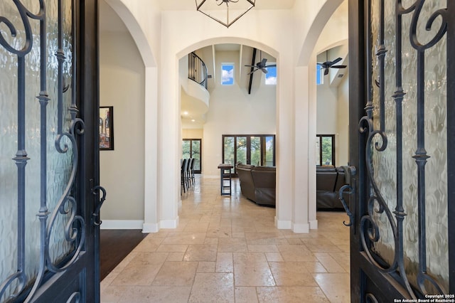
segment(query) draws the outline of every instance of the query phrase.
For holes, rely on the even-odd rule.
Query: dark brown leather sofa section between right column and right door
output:
[[[338,191],[345,185],[345,171],[343,167],[317,166],[316,167],[316,207],[318,210],[343,209],[338,199]]]

